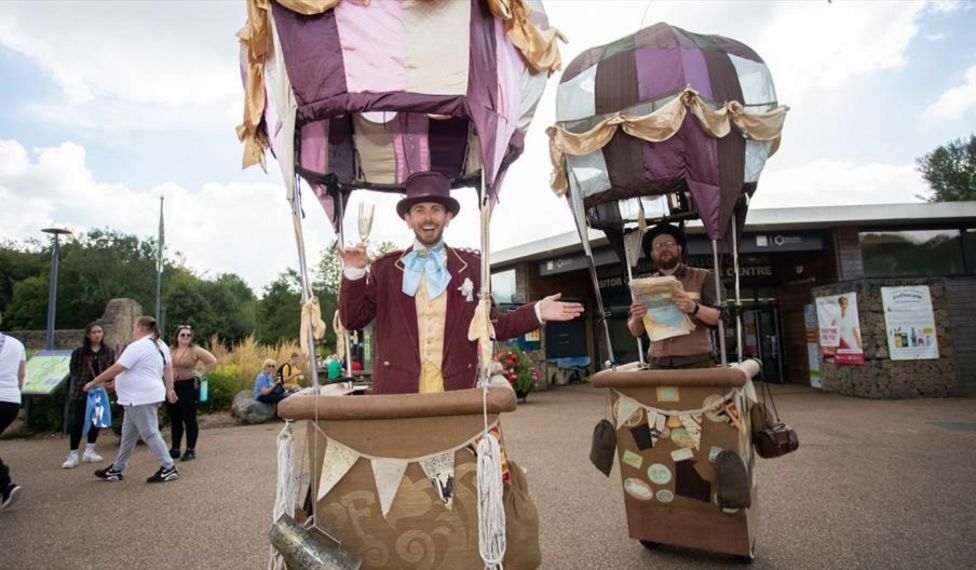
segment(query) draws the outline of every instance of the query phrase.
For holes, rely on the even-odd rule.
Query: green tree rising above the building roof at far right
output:
[[[976,200],[976,134],[957,139],[915,161],[916,168],[932,187],[929,202]]]

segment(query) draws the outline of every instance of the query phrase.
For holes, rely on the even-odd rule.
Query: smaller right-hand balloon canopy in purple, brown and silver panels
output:
[[[775,152],[786,111],[748,46],[658,23],[583,52],[563,73],[549,129],[553,186],[607,228],[634,221],[638,197],[690,193],[721,238]],[[658,201],[641,205],[667,214]]]

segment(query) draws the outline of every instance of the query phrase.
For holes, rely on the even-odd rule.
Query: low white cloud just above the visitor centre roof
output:
[[[751,207],[903,204],[919,202],[917,195],[928,192],[928,185],[910,164],[820,159],[767,169]]]

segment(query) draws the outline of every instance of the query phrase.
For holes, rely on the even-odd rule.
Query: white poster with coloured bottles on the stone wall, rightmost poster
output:
[[[892,360],[926,360],[939,357],[932,296],[927,285],[882,287],[888,354]]]

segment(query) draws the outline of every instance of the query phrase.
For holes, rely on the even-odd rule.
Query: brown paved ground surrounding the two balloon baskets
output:
[[[776,388],[801,446],[760,463],[755,568],[972,567],[976,431],[935,423],[976,423],[976,399],[868,401]],[[530,395],[504,420],[540,511],[543,567],[735,567],[708,553],[647,551],[627,537],[617,467],[607,479],[587,460],[604,404],[599,390],[564,387]],[[0,568],[263,568],[280,428],[205,430],[200,458],[163,485],[144,482],[156,469],[145,447],[125,481],[106,483],[87,464],[60,469],[63,438],[0,441],[25,487],[0,513]],[[110,460],[114,438],[103,438]]]

